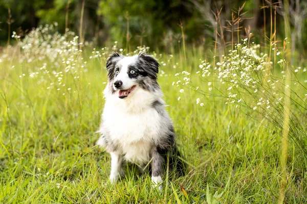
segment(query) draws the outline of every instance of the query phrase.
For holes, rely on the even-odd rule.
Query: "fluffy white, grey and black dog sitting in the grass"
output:
[[[161,189],[167,155],[170,169],[182,174],[183,163],[178,160],[172,121],[157,82],[159,63],[144,53],[131,57],[113,53],[106,69],[108,83],[97,144],[111,155],[109,179],[114,183],[123,176],[123,159],[140,167],[150,162],[151,181]]]

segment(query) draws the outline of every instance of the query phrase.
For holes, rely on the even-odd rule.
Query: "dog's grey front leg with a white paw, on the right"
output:
[[[158,187],[159,190],[162,190],[162,176],[163,176],[163,165],[164,165],[164,158],[157,149],[151,152],[151,182],[153,186]]]

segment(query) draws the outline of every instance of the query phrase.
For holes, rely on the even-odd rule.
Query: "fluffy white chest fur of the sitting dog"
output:
[[[153,99],[147,96],[146,101],[142,97],[133,101],[115,97],[106,100],[103,126],[127,161],[146,164],[152,145],[160,139],[163,123],[159,113],[151,108]]]

